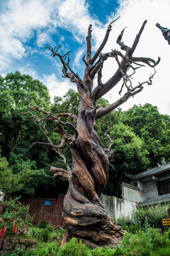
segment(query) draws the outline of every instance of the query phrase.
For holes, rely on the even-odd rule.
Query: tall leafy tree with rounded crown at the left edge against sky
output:
[[[0,143],[2,156],[10,160],[10,154],[18,140],[29,134],[28,118],[19,111],[26,112],[29,106],[40,105],[47,110],[50,96],[42,82],[30,75],[11,73],[0,77]]]

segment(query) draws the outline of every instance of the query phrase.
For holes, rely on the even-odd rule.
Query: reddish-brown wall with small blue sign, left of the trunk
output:
[[[64,196],[59,195],[58,199],[48,198],[21,198],[23,205],[30,206],[29,214],[35,215],[33,225],[37,225],[40,220],[47,220],[52,225],[62,227],[62,211]]]

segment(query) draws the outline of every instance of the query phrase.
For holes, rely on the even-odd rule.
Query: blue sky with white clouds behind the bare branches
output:
[[[93,50],[100,45],[108,23],[113,30],[104,52],[120,50],[116,38],[125,28],[123,41],[132,46],[143,21],[147,19],[134,56],[150,57],[161,62],[157,65],[153,85],[146,86],[139,95],[130,98],[121,107],[127,110],[134,104],[149,102],[157,105],[159,112],[170,114],[170,46],[164,40],[162,32],[155,26],[160,23],[170,28],[169,0],[0,0],[0,74],[16,72],[29,74],[39,79],[49,89],[51,100],[62,96],[74,84],[62,78],[62,66],[57,58],[52,58],[45,50],[46,45],[60,46],[64,55],[71,50],[72,68],[81,77],[84,63],[82,57],[86,49],[86,33],[89,23],[93,25]],[[103,82],[111,78],[117,64],[109,60],[104,67]],[[154,73],[149,67],[141,68],[133,82],[143,82]],[[118,100],[117,90],[106,95],[110,102]]]

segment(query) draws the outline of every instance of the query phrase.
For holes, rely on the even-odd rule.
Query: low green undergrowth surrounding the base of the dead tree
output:
[[[12,220],[16,218],[18,221],[20,215],[28,213],[28,208],[19,207],[17,200],[4,203],[0,229],[4,225],[3,223],[7,222],[8,232],[6,234],[16,236],[17,234],[12,232]],[[76,238],[72,238],[64,246],[57,247],[64,230],[56,229],[46,220],[40,220],[37,226],[33,226],[27,217],[28,219],[24,220],[24,223],[27,223],[27,232],[26,234],[20,232],[18,235],[36,240],[38,245],[33,252],[18,248],[14,252],[8,252],[8,256],[166,256],[169,255],[170,251],[170,228],[160,229],[162,228],[160,218],[167,215],[167,208],[169,207],[170,205],[166,204],[139,208],[133,211],[131,218],[119,218],[117,223],[121,223],[128,232],[125,233],[120,245],[112,249],[103,246],[92,250]]]

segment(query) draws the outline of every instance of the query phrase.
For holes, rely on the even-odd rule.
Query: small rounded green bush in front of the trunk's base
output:
[[[81,240],[78,242],[77,238],[72,238],[67,244],[60,247],[58,256],[90,256],[89,249]]]

